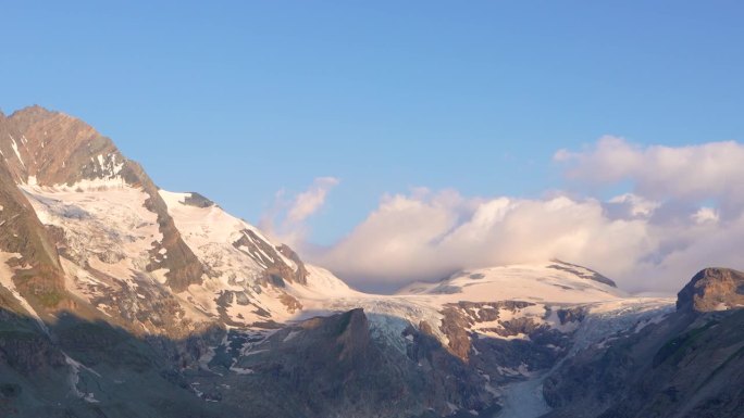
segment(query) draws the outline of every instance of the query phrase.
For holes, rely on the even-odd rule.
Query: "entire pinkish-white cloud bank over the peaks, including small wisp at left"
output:
[[[351,284],[375,290],[549,258],[595,268],[632,292],[675,292],[707,266],[744,268],[744,145],[641,147],[604,137],[584,150],[560,150],[554,161],[569,192],[514,199],[416,189],[383,197],[330,248],[299,236],[293,244]],[[604,201],[576,197],[618,185],[630,189]],[[328,187],[313,190],[307,193],[314,199],[302,193],[296,206],[317,211]],[[307,218],[296,212],[287,219]]]

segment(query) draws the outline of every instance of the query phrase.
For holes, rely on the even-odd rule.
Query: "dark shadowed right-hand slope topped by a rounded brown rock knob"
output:
[[[742,275],[703,269],[664,320],[567,358],[545,380],[546,417],[744,416]]]

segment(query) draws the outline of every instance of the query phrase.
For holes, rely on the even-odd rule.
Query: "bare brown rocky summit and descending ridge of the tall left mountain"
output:
[[[110,185],[141,189],[145,207],[158,215],[161,242],[152,249],[148,271],[166,269],[168,284],[183,291],[200,283],[203,266],[183,242],[158,187],[111,139],[85,122],[34,105],[0,117],[0,159],[17,185],[100,188]],[[162,253],[169,257],[162,257]]]

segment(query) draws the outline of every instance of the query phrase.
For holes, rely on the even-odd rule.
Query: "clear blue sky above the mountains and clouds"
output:
[[[78,116],[158,185],[257,223],[340,182],[331,243],[384,193],[535,198],[611,134],[744,138],[736,1],[9,2],[0,107]]]

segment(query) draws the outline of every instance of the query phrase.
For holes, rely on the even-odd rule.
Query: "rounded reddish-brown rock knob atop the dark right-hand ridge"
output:
[[[744,308],[744,273],[705,268],[677,294],[677,309],[714,312]]]

